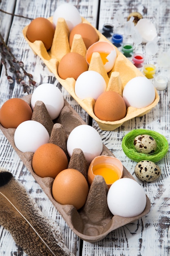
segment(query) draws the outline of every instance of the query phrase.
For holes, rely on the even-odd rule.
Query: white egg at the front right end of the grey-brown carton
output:
[[[121,178],[110,186],[107,204],[113,215],[138,216],[146,207],[146,194],[135,180]]]

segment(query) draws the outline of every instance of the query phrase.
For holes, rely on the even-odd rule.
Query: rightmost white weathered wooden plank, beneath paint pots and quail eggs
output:
[[[156,25],[159,36],[159,51],[168,52],[170,35],[170,13],[167,11],[169,1],[134,0],[134,1],[110,1],[101,0],[99,29],[104,23],[111,23],[114,32],[124,33],[124,25],[117,25],[115,14],[119,11],[123,16],[124,24],[128,15],[133,11],[140,12],[144,18],[150,19]],[[130,38],[128,38],[129,40]],[[135,52],[145,54],[145,45],[139,45]],[[170,67],[161,68],[157,63],[158,54],[151,56],[149,61],[157,67],[157,74],[162,73],[170,81]],[[146,59],[148,61],[148,59]],[[155,130],[164,135],[170,143],[170,108],[169,108],[169,82],[168,88],[159,91],[160,101],[158,105],[143,117],[136,117],[124,123],[114,131],[102,131],[97,123],[93,127],[102,136],[103,143],[119,158],[124,166],[144,188],[151,201],[151,210],[147,216],[134,223],[121,227],[106,236],[98,243],[83,243],[83,256],[119,256],[119,255],[169,255],[169,161],[170,154],[157,162],[162,170],[161,177],[150,183],[141,182],[134,173],[137,162],[130,160],[121,148],[123,137],[131,130],[144,128]]]

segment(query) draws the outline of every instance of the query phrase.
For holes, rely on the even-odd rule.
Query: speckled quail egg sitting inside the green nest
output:
[[[133,144],[139,153],[152,154],[157,149],[157,141],[150,135],[138,135],[135,137]]]

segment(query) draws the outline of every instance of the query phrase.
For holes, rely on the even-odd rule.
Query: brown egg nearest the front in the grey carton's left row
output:
[[[86,202],[88,183],[82,173],[75,169],[61,171],[52,186],[55,201],[60,204],[71,204],[77,210]]]

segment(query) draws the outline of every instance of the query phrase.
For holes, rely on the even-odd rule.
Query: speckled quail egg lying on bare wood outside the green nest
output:
[[[135,166],[135,175],[139,180],[151,182],[159,178],[161,169],[154,162],[143,160]]]

